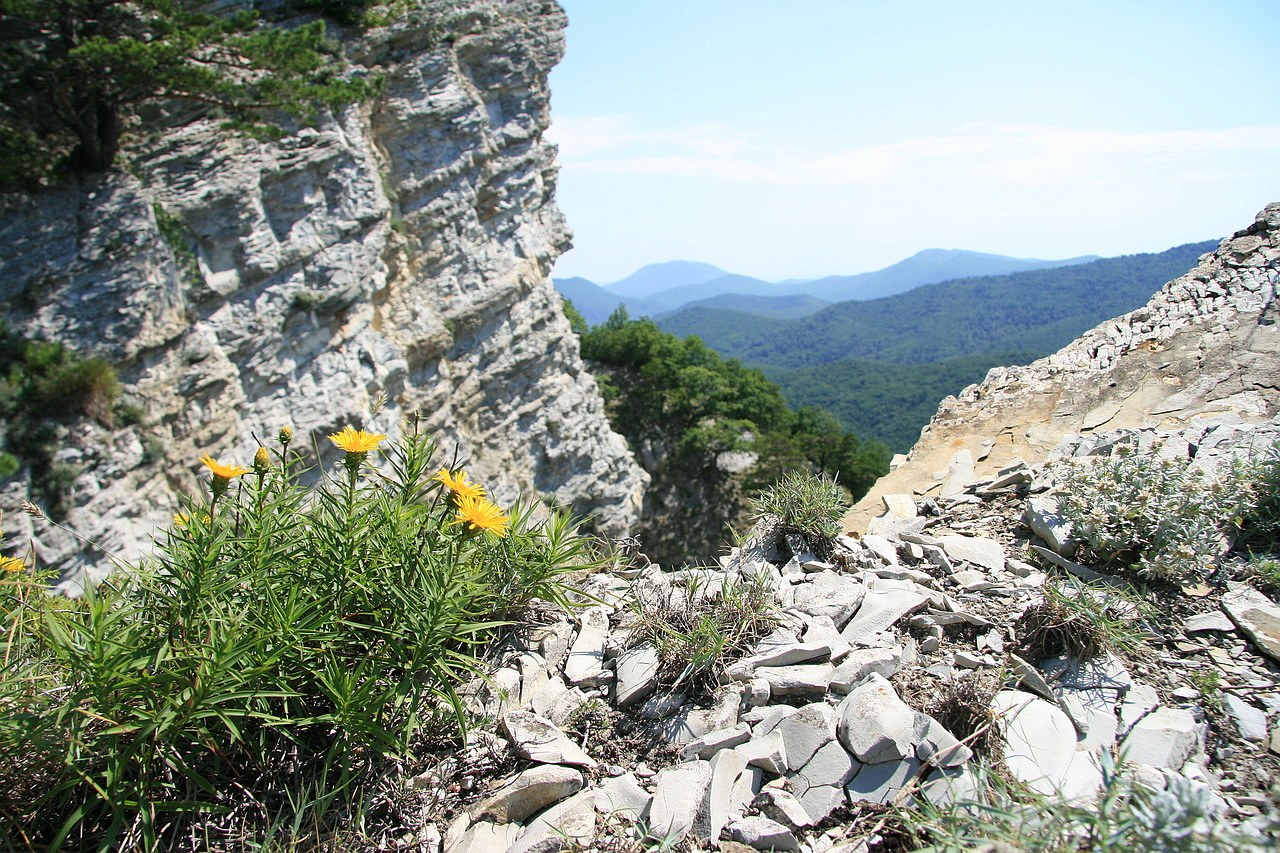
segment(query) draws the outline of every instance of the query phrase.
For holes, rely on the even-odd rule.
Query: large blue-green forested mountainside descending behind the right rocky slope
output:
[[[846,429],[905,453],[938,402],[993,366],[1027,364],[1132,311],[1215,242],[1010,275],[957,279],[869,302],[771,320],[710,306],[658,318],[758,366],[792,406],[819,406]]]

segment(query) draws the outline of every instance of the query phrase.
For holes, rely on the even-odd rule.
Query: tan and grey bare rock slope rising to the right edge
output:
[[[1271,204],[1146,306],[1030,365],[996,368],[942,401],[908,460],[846,525],[865,529],[883,494],[936,494],[948,470],[989,479],[1015,457],[1039,462],[1068,435],[1175,429],[1224,412],[1270,419],[1280,410],[1277,268],[1280,204]]]

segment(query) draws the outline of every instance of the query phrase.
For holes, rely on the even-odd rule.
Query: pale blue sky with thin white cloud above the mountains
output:
[[[1280,1],[561,0],[554,275],[1219,240],[1280,201]]]

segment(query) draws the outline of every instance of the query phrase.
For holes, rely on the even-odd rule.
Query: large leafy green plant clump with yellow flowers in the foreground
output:
[[[291,430],[212,488],[156,565],[79,601],[46,574],[0,585],[0,825],[23,849],[228,849],[279,827],[360,822],[422,733],[460,734],[457,688],[504,619],[566,601],[576,524],[509,516],[416,430],[315,492]],[[9,566],[6,566],[8,569]],[[384,806],[385,807],[385,806]]]

